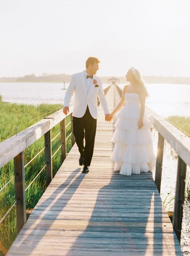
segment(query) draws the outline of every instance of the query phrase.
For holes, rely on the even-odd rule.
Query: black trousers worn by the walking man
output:
[[[73,117],[73,133],[81,157],[84,157],[84,165],[90,166],[94,151],[94,140],[96,135],[96,121],[86,109],[83,117]],[[84,146],[85,138],[85,146]]]

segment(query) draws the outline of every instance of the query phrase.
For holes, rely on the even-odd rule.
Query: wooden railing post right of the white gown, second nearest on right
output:
[[[164,137],[158,132],[157,158],[156,158],[156,169],[155,169],[155,184],[157,186],[157,189],[158,189],[159,193],[160,193],[160,186],[161,186],[163,146],[164,146]]]

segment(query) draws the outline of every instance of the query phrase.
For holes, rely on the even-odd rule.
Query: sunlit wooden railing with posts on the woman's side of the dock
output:
[[[122,95],[122,90],[117,86],[117,90]],[[152,125],[158,131],[158,143],[157,143],[157,158],[155,168],[155,184],[160,193],[161,187],[161,175],[162,175],[162,162],[164,153],[164,141],[174,148],[178,154],[178,167],[177,167],[177,178],[176,178],[176,191],[175,191],[175,203],[174,203],[174,214],[172,224],[176,231],[176,235],[180,240],[181,228],[182,228],[182,217],[183,217],[183,206],[184,206],[184,193],[186,184],[186,166],[190,166],[190,137],[186,136],[182,131],[177,129],[169,121],[160,117],[147,106],[145,107],[149,120]]]

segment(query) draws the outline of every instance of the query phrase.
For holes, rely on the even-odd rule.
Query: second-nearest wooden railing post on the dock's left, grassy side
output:
[[[45,141],[45,170],[46,170],[46,187],[53,179],[52,171],[52,154],[51,154],[51,130],[44,134]]]

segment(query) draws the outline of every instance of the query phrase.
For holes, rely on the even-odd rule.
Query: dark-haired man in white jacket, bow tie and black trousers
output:
[[[89,172],[94,151],[98,115],[97,97],[104,110],[105,120],[110,121],[112,119],[102,88],[102,81],[98,76],[95,76],[99,69],[98,63],[100,61],[95,57],[87,59],[86,70],[72,75],[64,99],[63,113],[67,115],[69,113],[69,103],[74,94],[73,132],[80,152],[79,164],[84,165],[83,173]]]

